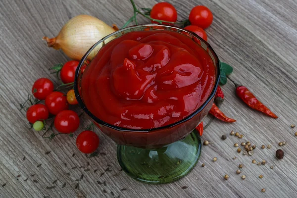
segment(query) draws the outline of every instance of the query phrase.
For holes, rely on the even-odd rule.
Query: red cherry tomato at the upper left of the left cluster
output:
[[[53,83],[47,78],[37,79],[32,87],[32,94],[37,99],[46,99],[52,91]]]

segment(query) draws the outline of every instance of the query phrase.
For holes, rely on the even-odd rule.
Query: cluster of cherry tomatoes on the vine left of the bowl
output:
[[[88,63],[89,62],[87,62],[87,64]],[[63,84],[57,88],[63,87],[64,85],[67,85],[66,88],[68,88],[74,85],[75,70],[78,64],[78,61],[71,60],[66,62],[63,66],[61,65],[59,69],[54,67],[56,72],[60,72],[60,78],[63,82]],[[85,70],[87,64],[83,66],[83,70]],[[78,114],[73,110],[69,110],[69,104],[78,104],[73,89],[70,89],[65,95],[62,92],[54,90],[54,85],[51,80],[48,78],[40,78],[37,79],[32,86],[32,95],[36,98],[36,102],[27,109],[26,116],[34,130],[46,130],[45,125],[47,125],[46,121],[49,119],[49,115],[54,116],[54,121],[51,125],[61,134],[72,134],[79,128],[80,119]],[[44,104],[41,103],[43,100]],[[53,133],[51,137],[55,135],[56,134]],[[99,146],[99,137],[93,131],[83,131],[78,135],[76,145],[81,152],[92,153]]]

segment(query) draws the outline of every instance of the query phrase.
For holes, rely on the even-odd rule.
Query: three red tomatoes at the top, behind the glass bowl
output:
[[[168,2],[159,2],[155,4],[151,11],[150,17],[152,19],[176,22],[177,21],[177,11],[175,7]],[[207,35],[204,31],[212,23],[213,15],[211,11],[203,5],[198,5],[193,7],[189,15],[189,21],[191,25],[186,26],[186,30],[190,30],[201,37],[203,40],[207,41]],[[157,23],[157,21],[151,21],[152,23]],[[171,24],[163,22],[163,24]]]

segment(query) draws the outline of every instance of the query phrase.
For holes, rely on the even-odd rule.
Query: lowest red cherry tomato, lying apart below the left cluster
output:
[[[99,137],[93,131],[83,131],[77,136],[76,146],[83,153],[92,153],[99,146]]]

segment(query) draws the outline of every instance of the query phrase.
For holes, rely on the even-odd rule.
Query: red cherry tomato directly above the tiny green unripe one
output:
[[[34,104],[27,110],[27,120],[35,123],[38,120],[46,120],[49,118],[49,110],[44,104]]]

